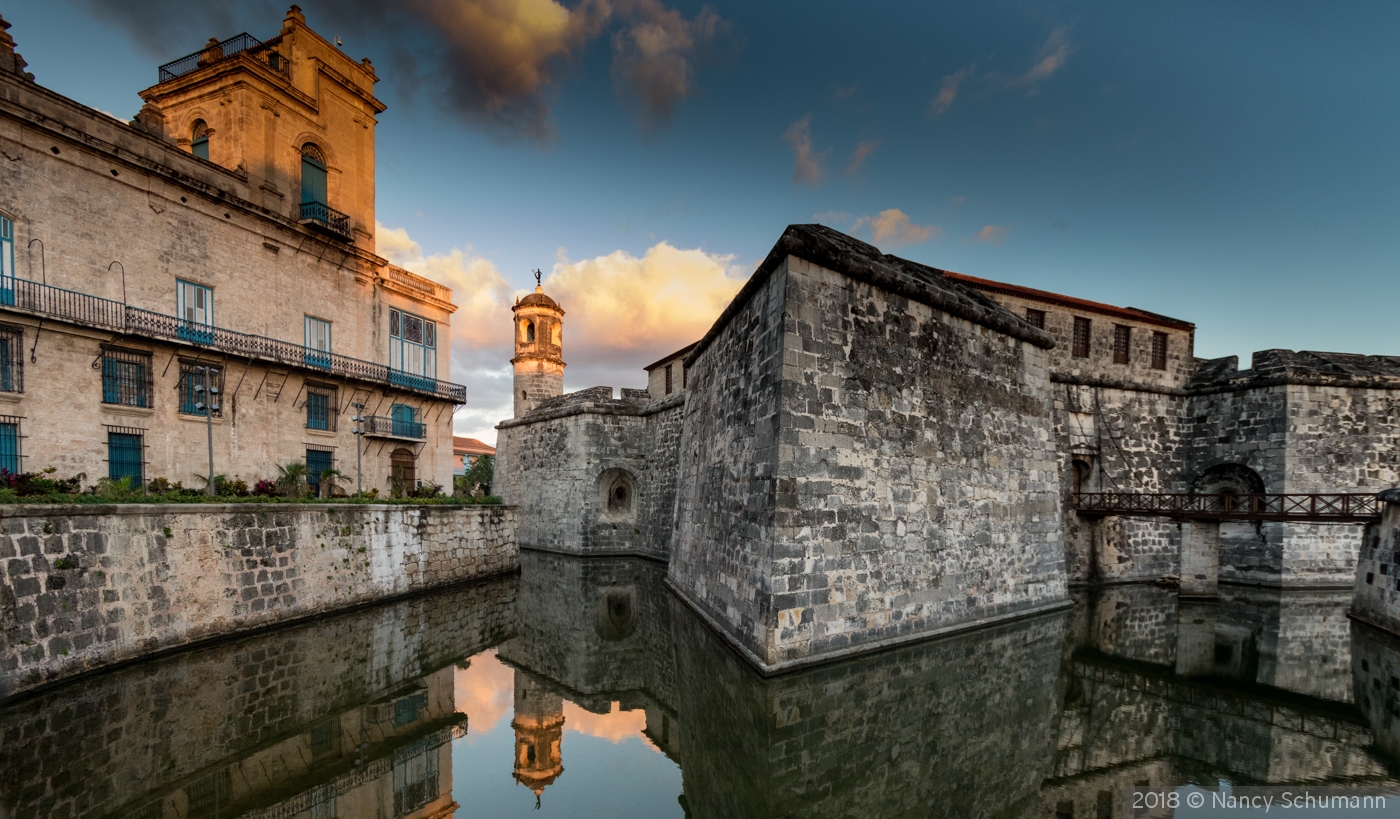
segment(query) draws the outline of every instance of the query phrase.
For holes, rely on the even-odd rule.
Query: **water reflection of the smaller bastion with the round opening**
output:
[[[606,713],[644,693],[675,714],[665,567],[634,557],[521,554],[519,622],[498,657]]]

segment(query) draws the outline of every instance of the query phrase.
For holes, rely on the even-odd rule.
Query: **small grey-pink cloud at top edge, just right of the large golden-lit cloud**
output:
[[[613,35],[617,94],[638,109],[643,127],[668,126],[676,105],[694,88],[696,60],[728,38],[731,27],[708,6],[694,20],[658,0],[616,0],[613,8],[630,20]]]

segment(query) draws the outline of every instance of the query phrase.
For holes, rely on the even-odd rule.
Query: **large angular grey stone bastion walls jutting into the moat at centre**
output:
[[[671,578],[759,662],[1064,599],[1040,347],[790,255],[690,391]]]

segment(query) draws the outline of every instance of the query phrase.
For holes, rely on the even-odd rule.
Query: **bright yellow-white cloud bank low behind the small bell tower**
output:
[[[468,399],[455,431],[496,441],[496,424],[514,412],[511,305],[528,291],[470,246],[424,255],[406,230],[382,224],[375,242],[381,256],[452,288],[451,379],[466,385]],[[641,368],[699,340],[746,277],[734,256],[669,242],[578,262],[561,249],[543,287],[566,311],[564,388],[645,386]]]

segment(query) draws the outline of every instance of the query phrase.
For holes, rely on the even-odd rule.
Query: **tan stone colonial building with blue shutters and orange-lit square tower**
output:
[[[449,486],[455,308],[374,252],[370,60],[293,6],[157,78],[125,123],[0,38],[0,468]]]

